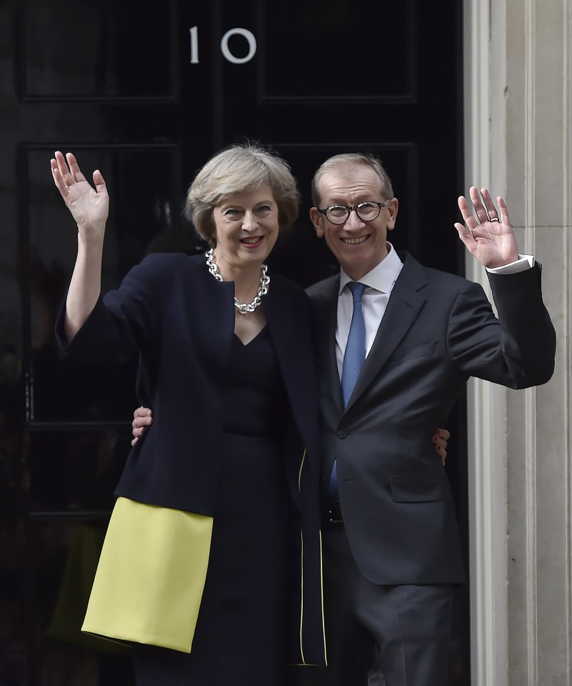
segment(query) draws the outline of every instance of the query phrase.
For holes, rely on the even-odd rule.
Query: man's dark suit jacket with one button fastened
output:
[[[343,522],[359,569],[376,584],[463,582],[448,479],[431,437],[468,377],[543,384],[556,336],[540,269],[489,274],[483,289],[408,254],[361,377],[343,409],[336,366],[339,277],[308,289],[318,337],[323,492],[334,459]]]

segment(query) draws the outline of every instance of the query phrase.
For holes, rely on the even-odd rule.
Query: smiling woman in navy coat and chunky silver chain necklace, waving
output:
[[[51,169],[78,227],[60,343],[139,355],[155,418],[116,489],[84,630],[133,643],[140,686],[280,685],[286,659],[323,665],[310,312],[264,264],[298,213],[288,165],[216,154],[187,199],[211,250],[152,254],[104,298],[104,178],[91,187],[71,153]]]

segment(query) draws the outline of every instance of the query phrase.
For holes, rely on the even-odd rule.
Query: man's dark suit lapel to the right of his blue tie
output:
[[[376,338],[363,364],[360,377],[353,389],[346,411],[366,391],[387,362],[393,351],[418,317],[426,298],[422,294],[427,283],[423,267],[411,255],[402,254],[403,269],[393,286],[386,312],[379,325]]]

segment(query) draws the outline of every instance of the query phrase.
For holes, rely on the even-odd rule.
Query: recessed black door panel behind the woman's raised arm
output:
[[[21,149],[21,244],[29,317],[24,321],[24,366],[29,427],[70,422],[124,422],[136,404],[136,361],[120,369],[82,364],[61,352],[54,321],[76,252],[76,229],[53,185],[46,162],[54,148],[74,149],[83,169],[105,170],[112,199],[106,227],[102,292],[119,286],[149,252],[174,250],[180,239],[178,144],[26,144]],[[152,170],[152,172],[150,172]],[[89,389],[89,392],[86,390]],[[109,389],[114,389],[112,394]]]

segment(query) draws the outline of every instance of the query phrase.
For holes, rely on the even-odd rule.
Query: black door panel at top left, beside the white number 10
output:
[[[24,101],[178,99],[175,0],[161,11],[111,0],[21,0],[18,10]]]

